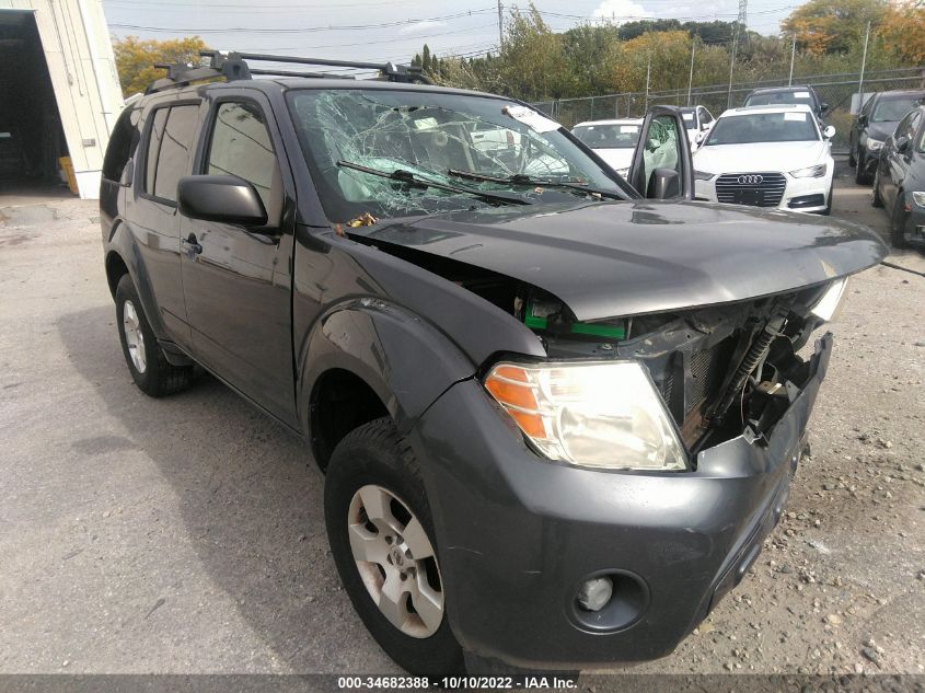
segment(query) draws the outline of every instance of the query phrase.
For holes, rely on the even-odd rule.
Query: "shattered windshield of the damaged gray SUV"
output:
[[[615,174],[594,163],[558,124],[507,100],[425,90],[303,89],[290,92],[288,102],[334,221],[493,204],[466,190],[530,203],[574,200],[583,186],[627,196]],[[413,178],[437,185],[416,185]]]

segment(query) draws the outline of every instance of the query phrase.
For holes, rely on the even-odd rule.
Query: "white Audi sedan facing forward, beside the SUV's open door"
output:
[[[731,108],[694,152],[697,199],[828,215],[832,136],[809,106]]]

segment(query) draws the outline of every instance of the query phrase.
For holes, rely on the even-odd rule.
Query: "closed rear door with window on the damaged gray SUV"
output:
[[[135,169],[140,181],[126,196],[125,216],[141,256],[136,277],[141,301],[149,315],[157,313],[166,333],[159,336],[184,348],[189,346],[189,331],[181,281],[176,184],[189,172],[199,107],[198,100],[166,101],[146,114]]]

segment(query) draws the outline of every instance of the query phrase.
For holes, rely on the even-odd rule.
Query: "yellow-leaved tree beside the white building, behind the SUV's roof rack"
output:
[[[123,94],[143,92],[151,82],[165,77],[166,71],[155,68],[155,63],[199,63],[199,51],[205,49],[206,43],[198,36],[167,41],[141,41],[138,36],[114,39],[113,51]]]

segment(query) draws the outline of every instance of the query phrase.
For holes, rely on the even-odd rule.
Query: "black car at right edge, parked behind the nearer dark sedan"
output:
[[[857,183],[865,185],[874,180],[883,142],[923,100],[925,90],[914,90],[879,92],[865,102],[848,135],[848,164],[855,168]]]

